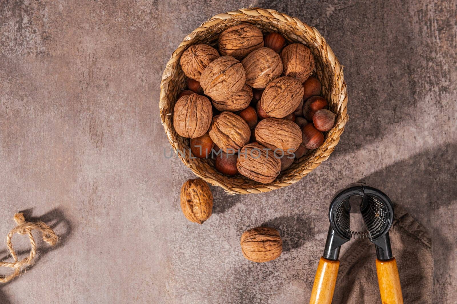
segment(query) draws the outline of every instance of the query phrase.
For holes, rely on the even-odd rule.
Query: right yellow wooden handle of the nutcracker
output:
[[[383,304],[403,304],[397,261],[376,259],[377,282]]]

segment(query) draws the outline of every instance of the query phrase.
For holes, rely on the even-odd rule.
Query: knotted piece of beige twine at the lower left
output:
[[[14,270],[9,276],[0,275],[0,283],[10,282],[12,279],[16,278],[21,272],[24,272],[26,267],[33,264],[33,258],[37,254],[37,244],[35,239],[32,236],[32,230],[39,230],[43,235],[43,241],[47,242],[49,245],[53,246],[57,243],[58,237],[55,232],[43,222],[26,222],[23,213],[16,213],[14,215],[14,221],[17,226],[13,228],[8,236],[6,236],[6,246],[13,257],[14,262],[0,262],[0,267],[10,267]],[[19,261],[17,254],[13,249],[13,244],[11,243],[11,238],[15,233],[27,236],[30,239],[31,250],[28,257],[25,257],[23,260]]]

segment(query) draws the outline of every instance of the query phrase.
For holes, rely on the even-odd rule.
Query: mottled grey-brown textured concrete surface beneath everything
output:
[[[351,121],[300,183],[248,196],[213,187],[214,214],[194,225],[178,202],[193,175],[163,157],[159,81],[187,33],[249,5],[322,33],[345,65]],[[455,0],[0,1],[0,237],[26,209],[61,236],[0,285],[0,303],[306,302],[329,201],[357,180],[427,228],[434,303],[455,303],[456,11]],[[264,223],[284,252],[255,264],[239,237]]]

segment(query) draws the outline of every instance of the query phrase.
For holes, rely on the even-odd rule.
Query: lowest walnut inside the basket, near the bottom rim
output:
[[[259,183],[271,183],[281,172],[281,161],[272,151],[251,143],[238,153],[236,167],[240,174]]]

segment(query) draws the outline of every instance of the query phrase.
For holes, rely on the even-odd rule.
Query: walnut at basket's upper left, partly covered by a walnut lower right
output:
[[[200,81],[203,70],[219,57],[219,53],[214,47],[207,44],[191,45],[181,55],[181,68],[187,77]]]

